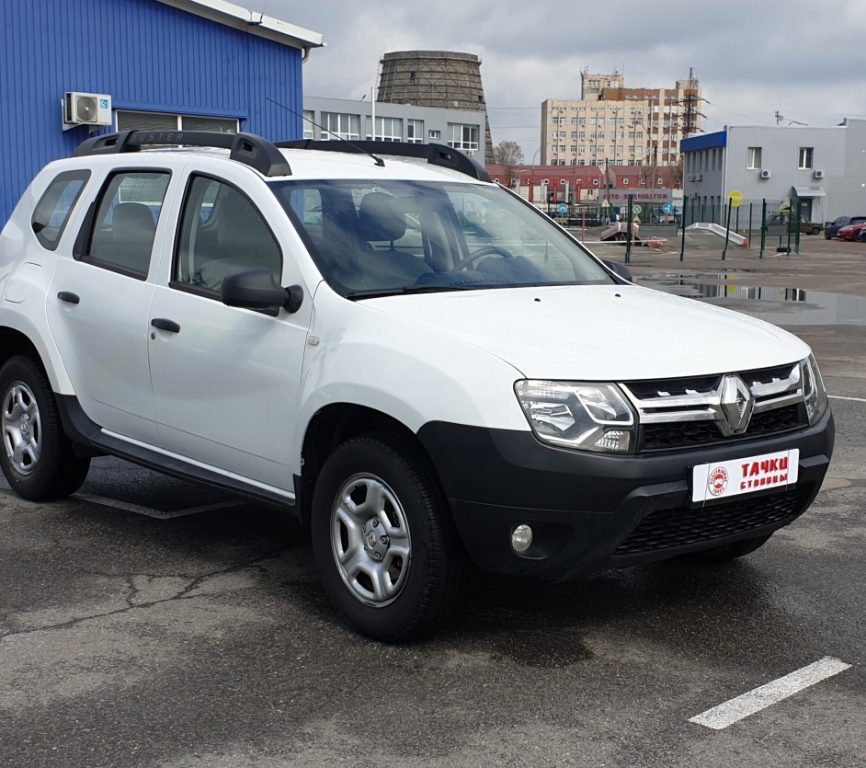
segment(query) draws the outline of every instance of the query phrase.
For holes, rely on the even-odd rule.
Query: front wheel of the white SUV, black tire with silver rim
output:
[[[311,532],[325,591],[361,634],[416,639],[451,611],[460,548],[429,464],[410,441],[367,435],[338,446],[316,480]]]

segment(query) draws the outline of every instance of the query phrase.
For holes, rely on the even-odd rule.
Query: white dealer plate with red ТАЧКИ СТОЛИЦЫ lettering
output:
[[[793,448],[790,451],[700,464],[692,471],[692,501],[713,501],[794,485],[799,461],[800,451]]]

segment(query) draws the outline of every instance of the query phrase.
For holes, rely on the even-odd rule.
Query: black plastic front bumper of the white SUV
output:
[[[813,427],[663,454],[559,449],[531,432],[431,422],[418,433],[438,471],[470,557],[485,570],[565,579],[771,533],[809,507],[830,464],[833,416]],[[692,469],[792,448],[799,478],[786,490],[691,502]],[[532,546],[511,548],[515,526]]]

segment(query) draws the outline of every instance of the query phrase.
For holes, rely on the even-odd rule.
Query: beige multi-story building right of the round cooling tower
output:
[[[544,165],[676,165],[680,141],[700,129],[693,72],[673,88],[626,88],[622,74],[581,72],[580,99],[541,105]]]

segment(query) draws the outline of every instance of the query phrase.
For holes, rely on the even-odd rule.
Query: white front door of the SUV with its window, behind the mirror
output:
[[[191,175],[171,279],[157,286],[150,312],[157,445],[290,493],[312,302],[307,296],[292,315],[225,306],[223,278],[254,268],[270,270],[281,285],[300,282],[256,202],[226,180]]]

